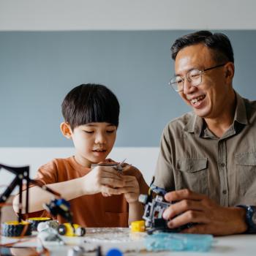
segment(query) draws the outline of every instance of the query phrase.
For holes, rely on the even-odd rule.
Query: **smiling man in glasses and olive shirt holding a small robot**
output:
[[[163,214],[186,233],[256,233],[256,102],[233,90],[233,49],[225,34],[197,31],[174,42],[170,80],[192,112],[170,121],[154,185],[176,201]]]

